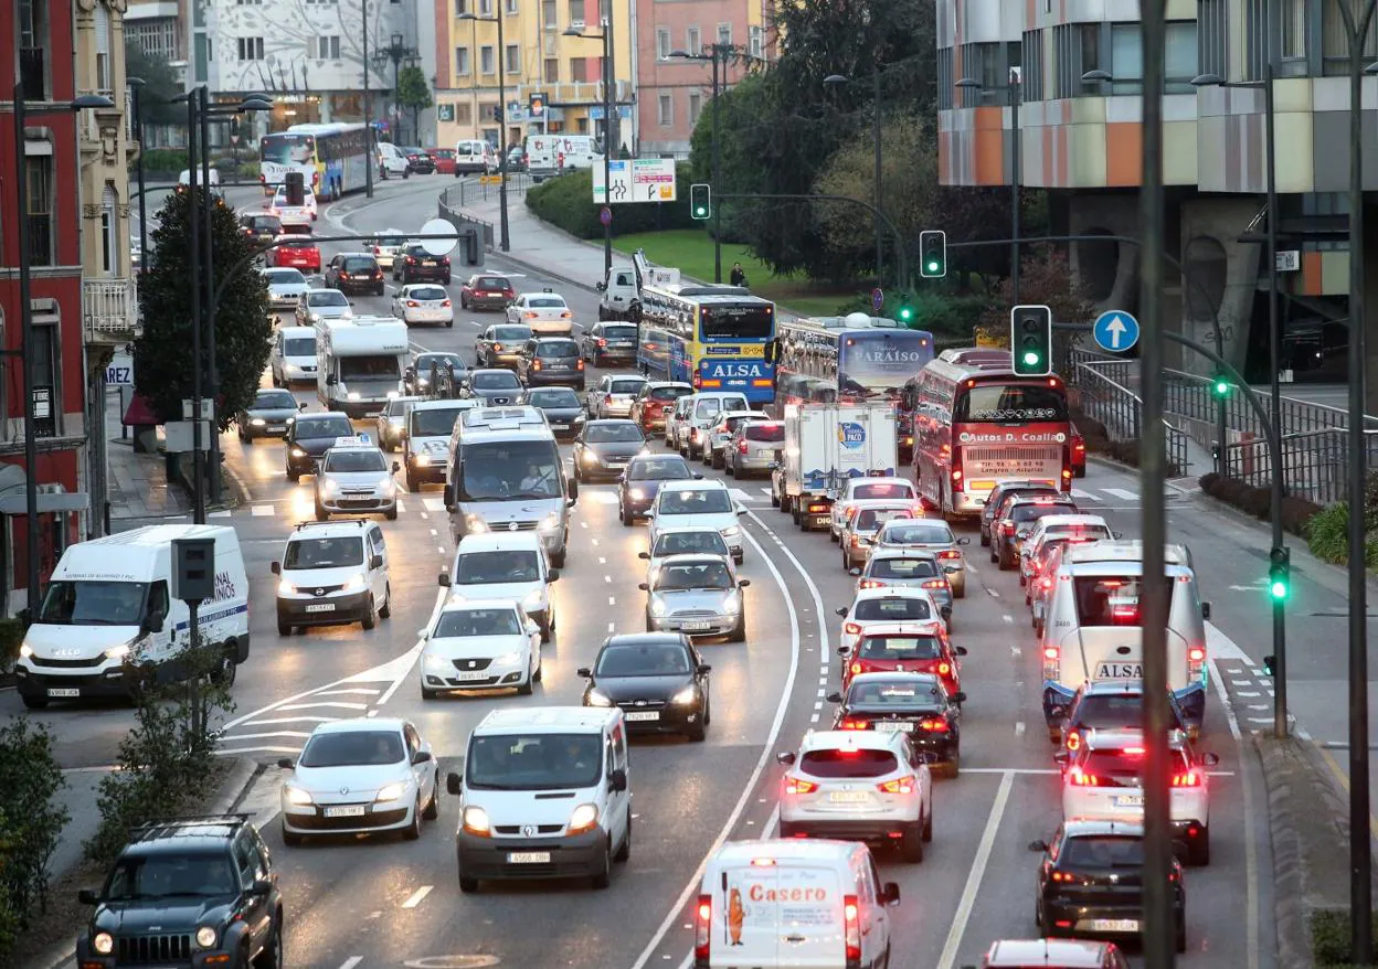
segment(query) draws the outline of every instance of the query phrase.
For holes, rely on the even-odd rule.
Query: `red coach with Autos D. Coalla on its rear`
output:
[[[1072,424],[1058,376],[1021,377],[1009,351],[947,350],[905,383],[914,482],[944,516],[978,515],[1011,478],[1072,490]]]

